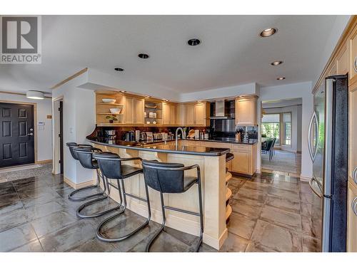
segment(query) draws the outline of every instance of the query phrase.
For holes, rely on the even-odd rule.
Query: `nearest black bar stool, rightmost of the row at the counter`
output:
[[[165,209],[170,209],[173,211],[179,211],[186,214],[191,214],[195,216],[199,216],[200,218],[200,226],[201,231],[199,235],[199,241],[195,248],[195,251],[198,251],[199,247],[202,243],[202,236],[203,236],[203,208],[202,208],[202,190],[201,190],[201,171],[200,167],[195,164],[192,166],[185,167],[183,164],[179,163],[166,163],[166,162],[157,162],[157,161],[149,161],[143,160],[142,162],[143,169],[144,169],[144,179],[146,184],[155,189],[156,191],[160,192],[160,199],[161,199],[161,211],[163,221],[161,224],[161,228],[159,231],[153,236],[149,244],[146,245],[146,251],[150,250],[151,244],[157,239],[159,234],[164,231],[165,223],[166,223],[166,216],[165,216]],[[184,171],[188,169],[197,169],[197,177],[186,177],[184,175]],[[178,209],[173,206],[166,206],[164,204],[164,194],[179,194],[186,192],[190,189],[193,184],[198,184],[198,204],[199,204],[199,212],[193,211],[186,211],[183,209]]]

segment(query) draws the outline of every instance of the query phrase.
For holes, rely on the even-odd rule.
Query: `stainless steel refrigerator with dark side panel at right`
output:
[[[348,78],[330,76],[313,97],[308,130],[313,161],[311,231],[321,251],[346,251],[348,181]]]

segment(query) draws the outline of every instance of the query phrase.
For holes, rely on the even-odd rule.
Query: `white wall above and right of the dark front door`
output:
[[[1,100],[37,104],[37,122],[44,122],[44,130],[37,128],[37,160],[52,159],[52,120],[46,117],[52,114],[51,99],[34,100],[25,95],[0,93]]]

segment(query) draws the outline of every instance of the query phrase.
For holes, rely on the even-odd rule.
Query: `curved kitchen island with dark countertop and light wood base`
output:
[[[142,159],[158,160],[159,162],[175,162],[185,166],[198,164],[201,169],[202,200],[203,200],[203,243],[219,249],[228,236],[226,227],[226,153],[229,148],[215,147],[190,147],[178,142],[178,147],[174,141],[157,143],[124,142],[114,143],[98,140],[96,137],[87,137],[103,151],[114,152],[120,157],[141,157]],[[102,142],[100,142],[102,141]],[[123,162],[141,167],[140,161]],[[189,170],[185,175],[196,176],[196,170]],[[95,174],[94,174],[95,177]],[[95,178],[94,178],[95,179]],[[136,176],[124,180],[126,192],[136,194],[145,198],[144,175]],[[111,190],[110,197],[119,201],[119,194],[116,190]],[[161,204],[160,194],[149,188],[151,204],[151,219],[161,224]],[[127,198],[128,209],[147,216],[147,207],[144,201]],[[166,205],[176,206],[188,211],[198,211],[198,188],[193,185],[191,189],[183,194],[164,194]],[[188,234],[199,235],[199,219],[197,216],[183,214],[181,212],[166,210],[166,226],[186,232]]]

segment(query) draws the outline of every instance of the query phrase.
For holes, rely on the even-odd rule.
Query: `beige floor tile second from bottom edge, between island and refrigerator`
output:
[[[271,206],[263,206],[259,219],[268,221],[278,226],[283,226],[295,231],[301,231],[301,216],[291,212],[276,209]]]

